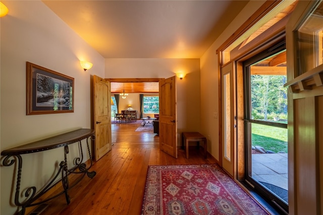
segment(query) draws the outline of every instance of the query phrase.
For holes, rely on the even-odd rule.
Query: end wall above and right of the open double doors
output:
[[[105,78],[169,78],[181,71],[186,76],[176,83],[179,145],[183,131],[200,131],[199,59],[105,59]]]

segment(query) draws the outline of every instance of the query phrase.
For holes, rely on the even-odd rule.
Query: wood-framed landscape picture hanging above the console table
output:
[[[26,114],[74,112],[74,78],[26,62]]]

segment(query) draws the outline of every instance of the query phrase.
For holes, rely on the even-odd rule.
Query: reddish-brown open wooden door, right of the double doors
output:
[[[159,81],[159,145],[177,158],[176,76]]]

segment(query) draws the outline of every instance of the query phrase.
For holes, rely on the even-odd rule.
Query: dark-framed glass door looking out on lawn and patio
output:
[[[243,62],[245,180],[288,211],[285,40]]]

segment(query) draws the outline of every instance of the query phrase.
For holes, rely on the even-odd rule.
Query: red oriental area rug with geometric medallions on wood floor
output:
[[[217,165],[148,166],[141,214],[269,214]]]

